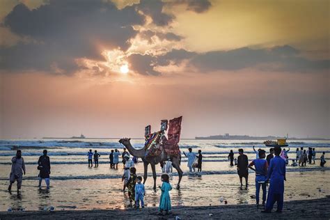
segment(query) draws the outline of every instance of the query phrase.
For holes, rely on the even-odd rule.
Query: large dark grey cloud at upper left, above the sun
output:
[[[51,0],[35,10],[20,3],[4,18],[3,26],[33,41],[1,46],[0,68],[52,72],[56,66],[70,73],[78,68],[76,58],[104,60],[103,49],[125,51],[138,33],[132,26],[144,23],[135,7],[118,10],[102,0]]]

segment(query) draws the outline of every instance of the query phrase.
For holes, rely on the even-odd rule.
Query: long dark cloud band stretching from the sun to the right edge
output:
[[[184,49],[173,49],[162,56],[153,56],[149,65],[166,66],[170,62],[179,64],[187,60],[188,66],[200,72],[217,70],[241,70],[244,68],[258,68],[259,70],[274,70],[288,72],[313,72],[329,70],[329,60],[313,61],[300,56],[300,52],[289,45],[272,47],[270,49],[251,49],[242,47],[229,51],[206,52],[203,54],[188,52]],[[148,60],[144,60],[148,62]],[[144,63],[145,66],[148,64]],[[142,69],[140,69],[142,71]],[[148,74],[141,72],[141,74]]]

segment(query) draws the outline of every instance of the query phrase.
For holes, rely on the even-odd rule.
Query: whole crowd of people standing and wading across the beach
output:
[[[198,168],[197,172],[202,171],[202,159],[203,155],[201,150],[198,150],[198,154],[192,151],[191,148],[188,148],[189,152],[183,152],[183,155],[187,157],[188,162],[187,166],[189,168],[189,172],[196,172],[196,168]],[[237,159],[235,158],[235,154],[233,150],[230,150],[228,155],[228,160],[230,160],[230,166],[237,166],[237,173],[239,175],[239,181],[241,184],[241,189],[243,187],[243,178],[245,179],[245,187],[248,187],[248,177],[249,177],[249,168],[256,172],[256,203],[259,205],[259,194],[260,187],[262,188],[262,205],[265,207],[263,212],[271,212],[274,203],[277,203],[277,211],[281,212],[283,209],[283,193],[284,193],[284,181],[285,179],[285,166],[288,165],[289,157],[288,150],[283,150],[281,148],[275,147],[269,149],[269,154],[266,156],[265,150],[258,149],[256,150],[253,146],[253,151],[256,153],[256,159],[253,159],[252,162],[249,163],[248,157],[244,154],[243,149],[239,149],[239,156]],[[129,206],[139,208],[140,203],[141,207],[144,207],[144,196],[146,195],[146,189],[144,184],[142,183],[142,177],[136,176],[136,168],[134,164],[138,162],[136,157],[133,159],[130,158],[129,152],[123,148],[123,153],[120,153],[118,149],[111,150],[109,155],[110,168],[118,169],[119,157],[122,157],[123,162],[123,191],[125,189],[128,190],[129,195]],[[324,159],[325,152],[322,152],[322,156],[320,157],[320,166],[324,166],[326,163]],[[88,167],[94,166],[98,167],[98,159],[100,158],[100,154],[97,150],[92,152],[89,150],[87,153],[88,157]],[[308,148],[308,150],[304,150],[304,148],[297,148],[296,150],[296,158],[292,159],[291,166],[306,166],[306,162],[308,164],[315,164],[316,152],[315,148]],[[22,157],[22,151],[17,150],[15,157],[12,158],[12,168],[10,171],[10,184],[8,186],[8,191],[11,191],[13,183],[17,182],[17,193],[22,187],[22,176],[26,173],[24,159]],[[235,162],[235,164],[234,164]],[[298,162],[298,163],[297,163]],[[253,168],[254,167],[254,168]],[[43,150],[42,155],[38,159],[39,170],[39,189],[42,189],[42,180],[46,182],[46,189],[49,190],[49,175],[51,173],[51,165],[50,159],[47,156],[47,150]],[[168,191],[171,191],[172,187],[169,184],[168,173],[172,172],[171,160],[164,162],[162,167],[162,195],[159,200],[159,213],[163,214],[163,212],[168,212],[171,210],[171,199]],[[267,184],[269,183],[269,190],[267,195]],[[267,195],[267,196],[266,196]],[[267,203],[266,203],[267,197]]]

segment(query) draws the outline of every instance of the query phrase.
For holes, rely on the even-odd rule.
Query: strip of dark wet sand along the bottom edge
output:
[[[329,219],[330,196],[285,202],[282,213],[261,213],[261,210],[256,205],[176,206],[164,217],[157,215],[156,207],[144,210],[0,212],[0,219],[175,219],[176,216],[181,219]]]

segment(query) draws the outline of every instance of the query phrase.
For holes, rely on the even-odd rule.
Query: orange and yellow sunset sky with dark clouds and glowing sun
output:
[[[0,137],[330,138],[327,0],[2,0]]]

